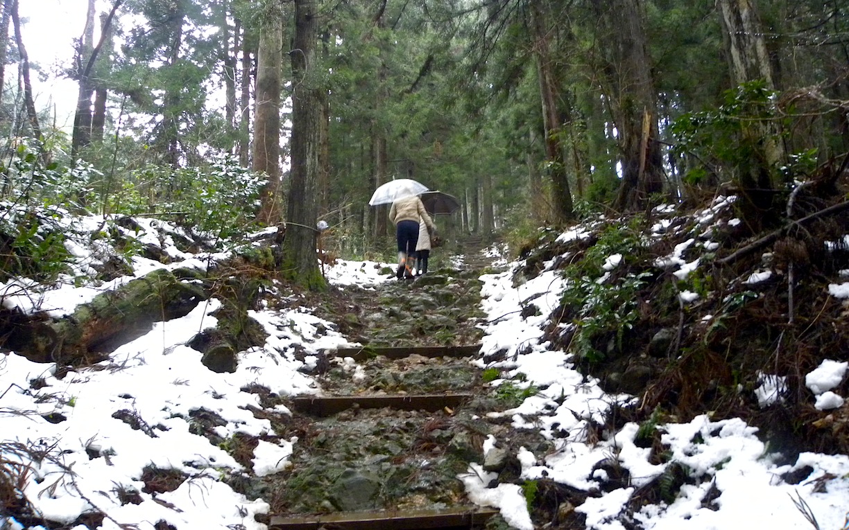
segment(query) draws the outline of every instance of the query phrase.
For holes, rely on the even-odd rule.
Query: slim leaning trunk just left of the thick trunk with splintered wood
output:
[[[539,0],[531,0],[531,34],[534,59],[537,61],[540,101],[543,106],[543,131],[545,152],[552,182],[553,221],[560,224],[574,217],[569,175],[566,172],[564,148],[559,135],[557,82],[552,70],[552,57],[548,44],[547,13]]]

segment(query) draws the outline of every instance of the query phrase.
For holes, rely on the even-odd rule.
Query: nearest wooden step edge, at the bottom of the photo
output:
[[[318,530],[323,526],[344,530],[412,530],[482,526],[498,514],[492,508],[450,510],[363,511],[322,516],[272,516],[268,530]]]

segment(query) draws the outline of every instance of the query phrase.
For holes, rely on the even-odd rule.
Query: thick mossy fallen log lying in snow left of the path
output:
[[[200,283],[184,281],[198,277],[197,271],[157,269],[99,294],[72,315],[18,327],[6,347],[35,362],[85,365],[103,360],[121,344],[149,332],[154,322],[188,315],[208,298]]]

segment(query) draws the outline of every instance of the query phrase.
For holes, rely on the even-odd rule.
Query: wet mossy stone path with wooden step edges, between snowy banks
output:
[[[457,477],[482,461],[493,426],[481,417],[508,405],[470,362],[483,316],[477,276],[492,265],[484,247],[464,241],[459,270],[351,289],[343,327],[363,347],[327,352],[322,393],[289,403],[298,443],[285,480],[268,486],[278,507],[269,528],[494,524],[497,511],[472,505]]]

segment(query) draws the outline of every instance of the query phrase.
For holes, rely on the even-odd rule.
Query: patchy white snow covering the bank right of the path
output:
[[[706,212],[706,219],[712,219],[715,212],[715,209]],[[561,238],[574,238],[574,233],[565,232]],[[672,258],[666,259],[663,265],[678,267],[675,272],[682,275],[694,270],[694,262],[680,259],[683,249],[690,244],[687,242],[676,248]],[[611,261],[615,260],[616,257],[611,256]],[[518,313],[523,301],[540,297],[535,303],[540,305],[543,315],[548,315],[557,304],[562,280],[548,269],[519,287],[512,287],[509,271],[485,275],[482,280],[485,297],[482,305],[490,323],[486,326],[481,354],[494,354],[506,348],[508,360],[489,366],[508,368],[510,374],[521,372],[526,375],[526,384],[550,385],[506,414],[513,415],[515,428],[533,429],[546,437],[550,437],[554,426],[569,432],[568,437],[555,438],[557,449],[554,453],[534,455],[535,463],[523,466],[522,477],[550,477],[575,488],[597,488],[593,466],[616,455],[621,466],[631,472],[633,486],[639,487],[660,475],[672,462],[678,462],[689,469],[699,484],[684,485],[672,504],[644,507],[634,516],[642,527],[675,530],[811,527],[797,504],[807,505],[816,516],[819,528],[845,530],[849,527],[849,457],[805,453],[794,465],[779,466],[774,463],[775,455],[767,453],[767,448],[756,437],[756,429],[739,419],[712,421],[710,416],[699,416],[689,423],[659,426],[663,443],[669,445],[674,455],[670,464],[661,466],[647,461],[648,449],[633,444],[638,430],[635,424],[622,427],[598,444],[586,444],[583,433],[588,421],[599,421],[610,404],[627,402],[630,398],[605,394],[597,381],[574,370],[569,354],[548,349],[548,343],[539,342],[541,320],[545,316],[531,316],[525,320]],[[846,365],[846,362],[825,361],[808,374],[807,386],[818,396],[818,407],[820,401],[823,408],[843,404],[841,396],[830,395],[833,394],[830,389],[845,377]],[[762,388],[762,393],[766,406],[768,399],[777,400],[774,399],[775,390],[780,384],[774,377],[766,377],[765,381],[767,387]],[[494,443],[497,444],[497,440]],[[784,473],[804,466],[811,466],[813,471],[802,483],[788,484],[781,480]],[[472,481],[466,478],[465,483],[472,499],[482,499],[483,504],[490,505],[500,502],[502,510],[523,510],[521,505],[504,502],[497,494],[487,496],[483,491],[486,479]],[[720,492],[714,505],[703,505],[702,500],[714,486]],[[633,488],[618,489],[598,499],[588,499],[577,510],[587,515],[588,529],[622,530],[625,526],[621,514],[632,494]],[[497,500],[492,500],[493,497]],[[511,517],[516,521],[515,527],[532,528],[520,516]]]

